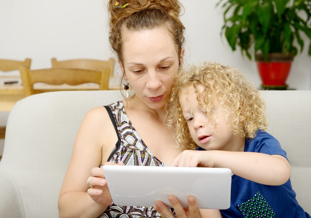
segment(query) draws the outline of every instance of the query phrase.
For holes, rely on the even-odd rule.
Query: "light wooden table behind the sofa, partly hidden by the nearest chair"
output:
[[[119,79],[120,77],[118,76],[113,76],[109,80],[109,89],[119,89]],[[17,83],[11,83],[11,84],[4,84],[4,82],[14,82],[17,81]],[[35,84],[34,88],[40,89],[40,87],[49,87],[51,89],[74,89],[73,86],[69,86],[67,84],[60,85],[60,86],[55,86],[55,85],[47,85],[47,84]],[[78,85],[78,88],[85,88],[85,89],[96,89],[98,88],[98,84],[94,83],[88,83],[88,84],[82,84]],[[75,87],[77,88],[77,86]],[[0,75],[0,111],[10,111],[14,104],[24,98],[24,90],[23,86],[21,85],[21,79],[19,76],[3,76]]]

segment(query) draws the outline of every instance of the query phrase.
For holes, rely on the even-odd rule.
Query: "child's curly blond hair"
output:
[[[204,87],[201,93],[198,92],[198,84]],[[203,111],[217,121],[217,117],[211,113],[213,93],[216,95],[227,113],[226,117],[232,118],[233,134],[254,138],[258,129],[267,128],[264,100],[259,90],[246,80],[241,71],[216,62],[205,62],[201,66],[192,65],[189,70],[181,70],[178,73],[166,106],[166,125],[174,131],[178,146],[182,149],[197,148],[179,104],[180,90],[190,85],[196,89],[197,100],[202,105]]]

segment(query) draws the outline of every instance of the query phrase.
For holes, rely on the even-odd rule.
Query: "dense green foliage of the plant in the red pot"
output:
[[[225,24],[221,32],[235,51],[242,55],[261,51],[303,51],[304,32],[311,40],[311,0],[219,0],[222,3]],[[220,5],[220,3],[218,4]],[[309,55],[311,56],[311,44]]]

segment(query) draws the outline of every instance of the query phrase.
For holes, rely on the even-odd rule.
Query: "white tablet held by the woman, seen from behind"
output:
[[[156,200],[167,207],[168,195],[188,208],[187,197],[196,198],[202,209],[228,209],[231,170],[208,167],[120,166],[102,167],[114,204],[153,207]]]

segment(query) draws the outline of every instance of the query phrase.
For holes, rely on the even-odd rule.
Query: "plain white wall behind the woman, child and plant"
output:
[[[253,61],[232,52],[220,37],[223,25],[218,0],[180,0],[186,26],[186,63],[214,60],[233,65],[260,85]],[[58,59],[107,59],[113,53],[108,42],[107,0],[0,0],[0,58],[32,59],[32,68],[50,67]],[[309,43],[309,42],[308,42]],[[295,58],[287,83],[291,88],[311,89],[311,57]],[[116,71],[119,71],[117,68]]]

